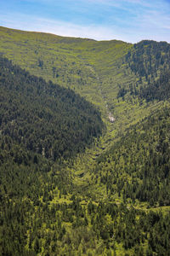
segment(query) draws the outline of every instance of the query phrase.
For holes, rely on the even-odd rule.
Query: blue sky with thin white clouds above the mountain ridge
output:
[[[170,43],[170,0],[0,0],[0,26],[95,40]]]

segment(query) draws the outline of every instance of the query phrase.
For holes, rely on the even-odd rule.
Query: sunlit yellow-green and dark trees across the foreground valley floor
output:
[[[169,212],[84,201],[65,169],[42,157],[1,165],[1,255],[170,253]]]

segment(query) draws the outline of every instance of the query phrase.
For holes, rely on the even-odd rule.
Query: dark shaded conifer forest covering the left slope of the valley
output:
[[[101,135],[100,113],[91,103],[72,90],[31,76],[3,57],[0,90],[2,143],[8,137],[20,148],[57,160],[81,152]]]

